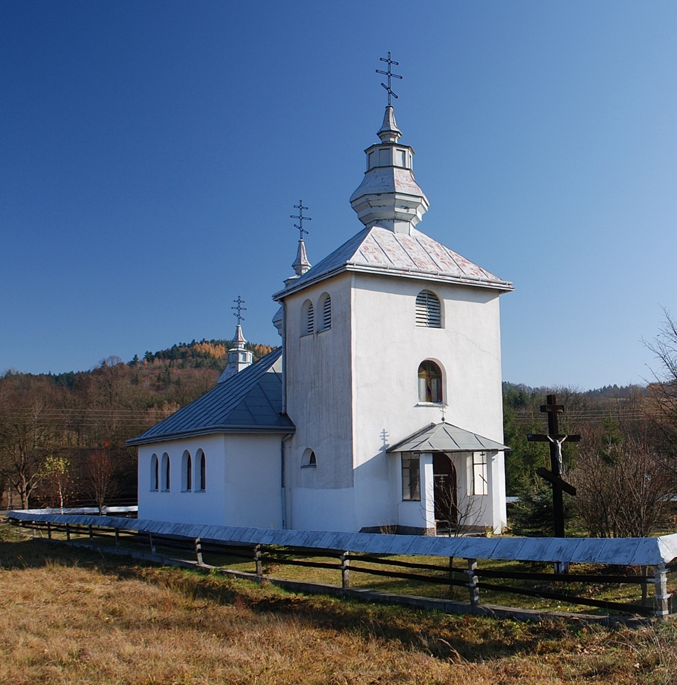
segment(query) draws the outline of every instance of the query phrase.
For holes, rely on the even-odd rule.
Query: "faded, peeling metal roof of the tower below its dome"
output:
[[[411,234],[407,235],[371,227],[344,242],[328,257],[306,271],[293,285],[275,293],[273,297],[280,299],[290,292],[341,271],[387,273],[502,291],[513,290],[513,284],[473,264],[417,229],[412,229]]]

